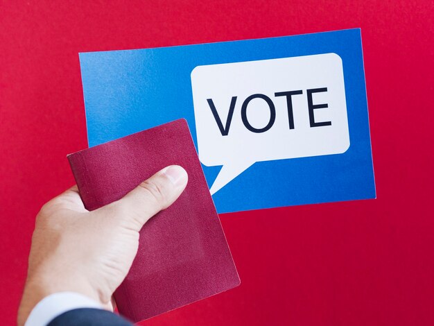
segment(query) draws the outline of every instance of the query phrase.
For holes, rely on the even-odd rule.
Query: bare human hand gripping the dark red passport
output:
[[[139,231],[180,196],[187,180],[186,171],[173,165],[92,212],[76,186],[46,203],[36,218],[18,325],[37,302],[63,291],[87,295],[112,310],[112,294],[137,254]]]

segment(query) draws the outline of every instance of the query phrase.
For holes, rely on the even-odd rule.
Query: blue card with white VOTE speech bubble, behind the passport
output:
[[[358,28],[80,67],[89,146],[185,118],[219,213],[376,196]]]

